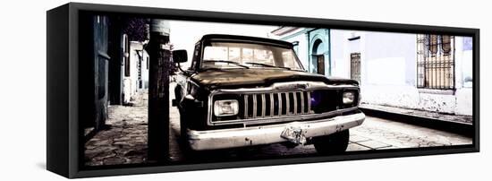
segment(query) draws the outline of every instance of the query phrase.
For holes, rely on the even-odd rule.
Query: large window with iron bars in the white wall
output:
[[[454,36],[417,35],[417,87],[454,90]]]

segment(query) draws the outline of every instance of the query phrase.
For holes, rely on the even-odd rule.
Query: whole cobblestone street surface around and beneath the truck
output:
[[[170,86],[174,90],[174,84]],[[171,95],[174,93],[171,91]],[[173,99],[173,98],[171,98]],[[107,130],[96,134],[86,143],[86,165],[113,165],[142,163],[147,157],[147,94],[133,107],[109,108]],[[180,136],[179,112],[170,108],[170,159],[186,160],[177,138]],[[471,138],[417,125],[367,116],[361,126],[350,130],[347,151],[417,148],[443,145],[471,144]],[[300,145],[288,149],[281,144],[255,147],[247,150],[227,151],[220,154],[226,159],[262,159],[285,155],[316,154],[313,145]]]

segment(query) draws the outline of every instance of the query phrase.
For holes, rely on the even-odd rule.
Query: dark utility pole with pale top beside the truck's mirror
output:
[[[162,163],[169,158],[169,22],[150,21],[148,42],[148,159]]]

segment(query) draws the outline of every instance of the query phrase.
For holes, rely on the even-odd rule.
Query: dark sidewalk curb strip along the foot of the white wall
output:
[[[367,116],[386,118],[396,122],[401,122],[411,125],[420,125],[423,127],[451,132],[454,134],[462,134],[465,136],[474,135],[475,126],[470,124],[451,122],[434,117],[424,117],[424,116],[415,116],[415,115],[403,114],[403,113],[394,113],[390,111],[378,110],[372,108],[360,108],[360,109]]]

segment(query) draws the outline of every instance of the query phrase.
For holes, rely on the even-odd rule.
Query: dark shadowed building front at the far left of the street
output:
[[[86,114],[81,115],[84,120],[82,125],[90,130],[101,129],[105,125],[108,116],[107,107],[109,92],[108,68],[111,61],[109,56],[109,18],[107,16],[92,16],[81,19],[81,24],[90,27],[90,33],[81,35],[81,69],[90,70],[81,72],[81,86],[93,90],[83,95],[81,107],[90,108]]]

